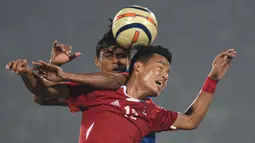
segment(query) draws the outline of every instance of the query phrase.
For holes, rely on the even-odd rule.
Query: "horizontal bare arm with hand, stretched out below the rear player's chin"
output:
[[[33,62],[38,70],[47,71],[46,78],[50,81],[71,81],[98,89],[117,89],[125,84],[127,75],[122,73],[83,73],[74,74],[64,72],[60,67],[39,60]]]

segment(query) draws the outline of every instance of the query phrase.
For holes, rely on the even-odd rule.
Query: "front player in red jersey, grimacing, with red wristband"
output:
[[[235,54],[230,49],[214,59],[202,90],[183,114],[161,108],[147,98],[158,96],[167,84],[171,53],[162,47],[140,49],[131,60],[126,86],[118,90],[85,90],[82,85],[59,83],[48,87],[44,95],[67,98],[71,111],[83,111],[80,143],[138,143],[150,132],[167,131],[171,127],[195,129]],[[70,76],[75,76],[43,61],[34,64],[48,72],[48,80],[70,80]]]

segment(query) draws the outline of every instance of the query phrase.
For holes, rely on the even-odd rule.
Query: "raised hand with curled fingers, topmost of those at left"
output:
[[[58,41],[53,42],[50,63],[54,65],[62,65],[81,55],[80,52],[71,54],[72,47],[69,45],[64,45],[63,43],[58,43]]]

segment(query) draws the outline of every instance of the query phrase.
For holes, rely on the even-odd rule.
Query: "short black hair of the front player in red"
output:
[[[154,54],[159,54],[165,57],[170,64],[172,62],[172,53],[163,46],[149,45],[149,46],[137,46],[135,48],[137,52],[130,61],[130,66],[128,69],[129,75],[132,74],[134,70],[134,64],[136,63],[136,61],[142,61],[146,63]]]

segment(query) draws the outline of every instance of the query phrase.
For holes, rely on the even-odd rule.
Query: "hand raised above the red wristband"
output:
[[[236,51],[234,49],[229,49],[225,52],[221,52],[212,63],[212,69],[209,73],[209,77],[220,80],[228,71],[230,62],[235,57]]]

